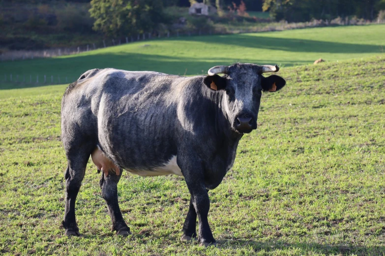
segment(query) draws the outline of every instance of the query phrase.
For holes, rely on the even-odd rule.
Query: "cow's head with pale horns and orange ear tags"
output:
[[[211,90],[226,92],[222,107],[231,122],[231,128],[239,133],[248,133],[257,128],[262,91],[275,92],[286,84],[282,77],[262,76],[262,73],[278,70],[277,65],[236,63],[231,66],[216,66],[208,70],[204,83]],[[217,74],[226,75],[220,77]]]

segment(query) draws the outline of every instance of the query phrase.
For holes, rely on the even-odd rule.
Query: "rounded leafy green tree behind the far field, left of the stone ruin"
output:
[[[91,0],[93,29],[107,36],[150,32],[164,21],[162,1]]]

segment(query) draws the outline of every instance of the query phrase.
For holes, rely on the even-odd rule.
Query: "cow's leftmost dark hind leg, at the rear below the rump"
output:
[[[65,210],[62,222],[65,234],[80,235],[75,218],[75,201],[79,193],[82,180],[86,172],[87,161],[91,153],[91,148],[72,147],[67,150],[68,165],[64,173],[65,178]]]

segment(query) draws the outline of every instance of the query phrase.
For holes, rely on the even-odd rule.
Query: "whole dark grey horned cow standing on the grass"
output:
[[[235,63],[215,66],[208,76],[181,77],[93,69],[71,83],[61,102],[65,234],[80,235],[75,201],[91,155],[102,171],[101,193],[118,235],[131,234],[118,205],[123,170],[175,174],[184,177],[190,192],[181,240],[216,245],[207,221],[207,192],[232,168],[242,136],[257,128],[262,92],[285,86],[282,77],[262,75],[278,70],[277,65]]]

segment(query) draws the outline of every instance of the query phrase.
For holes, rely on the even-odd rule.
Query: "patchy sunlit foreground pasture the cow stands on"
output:
[[[46,95],[14,90],[23,97],[0,100],[0,253],[384,256],[385,55],[279,75],[287,86],[264,94],[259,128],[242,138],[234,169],[209,192],[218,248],[207,249],[180,241],[189,194],[176,176],[124,172],[118,195],[133,235],[116,236],[91,163],[76,206],[83,236],[65,237],[64,86]]]

